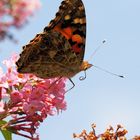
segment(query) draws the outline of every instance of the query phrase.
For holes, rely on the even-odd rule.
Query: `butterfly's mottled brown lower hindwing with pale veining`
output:
[[[38,34],[24,46],[16,65],[18,72],[34,73],[41,78],[71,77],[74,68],[78,67],[75,58],[68,40],[61,33],[50,30]]]

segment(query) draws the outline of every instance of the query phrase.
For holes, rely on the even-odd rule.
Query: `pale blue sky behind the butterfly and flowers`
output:
[[[128,138],[140,135],[140,0],[83,0],[87,15],[85,59],[107,40],[90,61],[123,74],[121,79],[96,68],[87,71],[87,78],[73,78],[75,88],[66,95],[67,110],[48,117],[38,132],[41,140],[72,140],[72,134],[90,130],[96,123],[97,133],[107,126],[122,124]],[[0,43],[0,61],[21,52],[21,48],[54,18],[61,0],[42,0],[42,8],[30,23],[13,32],[19,44],[5,40]],[[13,140],[25,140],[14,136]],[[0,136],[0,140],[3,138]]]

